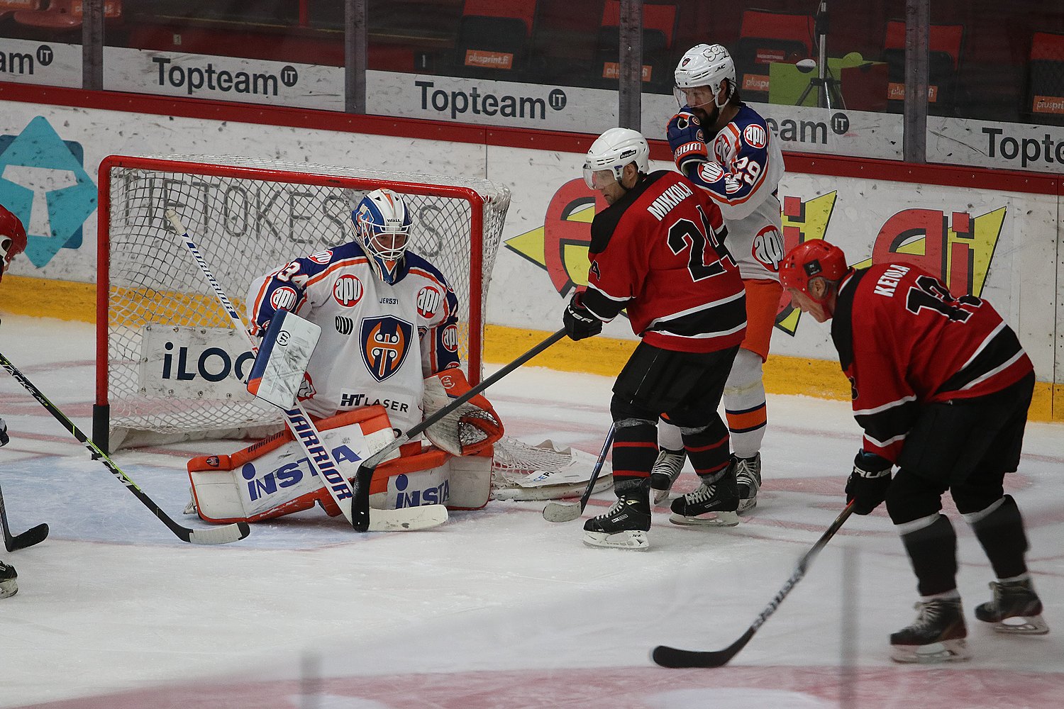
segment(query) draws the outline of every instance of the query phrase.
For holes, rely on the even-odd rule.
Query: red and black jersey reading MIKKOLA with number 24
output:
[[[679,352],[716,352],[746,333],[746,297],[720,209],[683,175],[643,178],[592,222],[583,304],[603,321]]]

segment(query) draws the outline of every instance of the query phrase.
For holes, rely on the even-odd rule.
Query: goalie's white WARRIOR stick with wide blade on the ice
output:
[[[226,310],[233,326],[238,332],[244,333],[248,338],[248,343],[251,345],[251,351],[257,354],[259,348],[255,345],[254,339],[252,339],[248,330],[244,326],[244,321],[240,320],[236,308],[233,307],[229,297],[226,296],[221,284],[214,277],[214,273],[211,272],[206,260],[203,259],[203,255],[199,251],[199,247],[193,241],[188,230],[185,229],[185,225],[178,217],[178,213],[172,208],[168,208],[166,210],[166,218],[178,233],[178,236],[182,238],[185,248],[188,249],[188,253],[196,259],[200,271],[203,273],[203,277],[206,278],[206,282],[214,290],[215,297],[217,297],[222,309]],[[329,491],[333,502],[339,507],[344,518],[358,531],[412,531],[434,527],[447,521],[447,508],[443,505],[422,505],[420,507],[403,507],[401,509],[370,509],[369,482],[367,480],[365,485],[361,485],[360,478],[355,476],[355,484],[352,488],[351,484],[339,472],[336,459],[322,445],[321,434],[314,425],[310,415],[303,410],[302,405],[297,401],[293,408],[282,410],[293,436],[299,441],[299,444],[303,448],[310,459],[314,461],[318,473],[321,475],[321,479],[326,482],[326,490]]]

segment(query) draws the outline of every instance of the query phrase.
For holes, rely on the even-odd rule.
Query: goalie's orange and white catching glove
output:
[[[471,387],[458,367],[425,379],[425,417],[429,418]],[[425,429],[432,444],[453,455],[473,455],[502,438],[502,421],[492,403],[477,394]]]

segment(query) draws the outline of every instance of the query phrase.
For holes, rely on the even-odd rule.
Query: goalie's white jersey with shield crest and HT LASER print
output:
[[[421,422],[423,378],[459,365],[458,299],[446,278],[410,251],[395,284],[382,282],[354,242],[297,258],[256,278],[248,293],[252,334],[285,308],[321,327],[300,391],[317,417],[380,404],[393,425]]]

